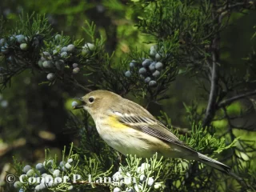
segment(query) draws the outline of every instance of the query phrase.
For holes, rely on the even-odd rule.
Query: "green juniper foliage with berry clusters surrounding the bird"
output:
[[[86,6],[80,2],[70,9],[58,10],[58,5],[62,2],[65,1],[54,1],[51,14],[56,11],[71,19],[74,14],[81,14],[82,10],[90,10],[95,6],[93,3]],[[65,97],[62,92],[66,90],[72,90],[73,94],[85,94],[98,89],[110,90],[122,97],[141,102],[150,110],[152,103],[170,105],[168,100],[171,86],[179,78],[185,78],[188,82],[192,79],[196,86],[193,84],[190,89],[198,90],[197,97],[193,101],[181,101],[182,110],[186,111],[186,118],[182,120],[188,128],[174,126],[166,112],[156,116],[187,146],[211,158],[218,158],[218,161],[232,167],[232,173],[223,174],[199,162],[165,159],[158,157],[158,154],[150,159],[136,158],[129,154],[124,157],[99,138],[89,114],[85,111],[70,111],[65,114],[66,119],[61,119],[66,124],[65,128],[55,128],[62,129],[69,137],[75,138],[70,146],[62,146],[62,154],[46,149],[44,161],[35,163],[34,166],[26,165],[20,157],[14,158],[12,163],[16,181],[21,175],[25,181],[30,181],[29,178],[32,177],[54,180],[66,176],[70,179],[60,183],[49,180],[45,184],[36,181],[12,184],[2,182],[2,189],[20,192],[256,190],[256,129],[254,118],[250,118],[255,115],[256,110],[256,32],[250,34],[252,48],[247,49],[248,52],[239,62],[230,62],[225,58],[226,50],[222,50],[225,42],[222,40],[222,33],[229,30],[238,15],[254,14],[256,2],[134,0],[124,3],[112,0],[102,1],[101,6],[107,8],[106,18],[126,18],[130,22],[128,25],[122,19],[114,21],[120,23],[117,26],[119,38],[122,35],[133,37],[126,43],[131,44],[129,49],[122,46],[122,43],[114,50],[107,49],[111,36],[93,22],[93,16],[86,18],[86,22],[78,30],[78,38],[66,35],[65,31],[60,32],[62,29],[56,32],[54,25],[50,25],[49,17],[40,14],[39,10],[35,10],[34,14],[21,14],[15,26],[11,17],[2,18],[2,93],[12,87],[11,82],[18,81],[19,75],[30,75],[27,73],[29,71],[34,77],[40,77],[33,86],[49,85],[47,90],[58,87],[58,98]],[[97,9],[100,8],[102,7]],[[12,27],[6,24],[8,22]],[[131,26],[136,28],[126,31]],[[255,30],[255,26],[250,27]],[[81,36],[84,38],[79,38]],[[138,39],[143,45],[133,47],[132,44]],[[127,40],[123,40],[125,41]],[[12,101],[15,102],[16,99],[12,98]],[[2,98],[0,102],[1,100]],[[8,123],[14,122],[14,118],[18,117],[18,112],[7,118],[3,111],[7,107],[8,113],[8,103],[1,105],[0,126],[8,127]],[[71,109],[71,103],[68,105]],[[72,105],[76,103],[73,102]],[[18,107],[16,106],[16,110],[19,110]],[[57,115],[54,112],[50,114],[51,118]],[[26,121],[22,122],[18,120],[18,125],[15,126],[16,129],[21,126],[19,131],[25,134],[26,128],[22,127]],[[11,125],[10,128],[13,129],[14,123]],[[27,136],[31,138],[33,131],[27,131]],[[7,137],[8,132],[2,132],[0,144],[11,142],[18,135],[8,141],[2,139]],[[30,144],[36,143],[29,141]],[[10,172],[12,174],[14,171]],[[74,182],[73,178],[79,179]],[[111,182],[101,182],[101,178],[110,178]]]

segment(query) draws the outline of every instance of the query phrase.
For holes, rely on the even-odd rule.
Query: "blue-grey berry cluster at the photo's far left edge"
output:
[[[25,37],[23,34],[11,35],[10,38],[1,38],[0,39],[0,52],[2,54],[9,54],[10,47],[18,46],[20,50],[28,49],[29,38]]]

